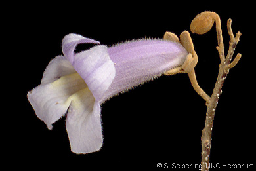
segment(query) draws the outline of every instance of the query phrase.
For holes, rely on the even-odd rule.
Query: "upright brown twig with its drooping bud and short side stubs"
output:
[[[222,93],[222,87],[226,76],[228,75],[229,69],[236,66],[238,61],[241,58],[241,54],[238,54],[236,58],[231,62],[232,56],[234,54],[234,50],[236,45],[238,44],[241,33],[238,32],[236,37],[234,37],[231,22],[229,19],[227,23],[228,34],[230,35],[230,45],[228,49],[228,54],[226,58],[224,58],[224,45],[223,45],[223,37],[221,31],[221,20],[219,16],[215,12],[202,12],[198,14],[196,18],[191,23],[190,29],[194,33],[203,34],[211,29],[213,26],[213,21],[216,22],[216,31],[217,31],[217,39],[218,46],[217,50],[219,52],[219,57],[221,59],[221,64],[219,65],[219,74],[217,77],[217,81],[215,83],[215,87],[213,89],[213,94],[211,94],[211,98],[209,103],[207,102],[207,112],[205,119],[205,128],[202,132],[202,170],[209,170],[209,159],[210,159],[210,151],[211,151],[211,134],[213,129],[213,119],[215,116],[216,107],[219,101],[219,97]],[[205,31],[206,30],[206,31]]]

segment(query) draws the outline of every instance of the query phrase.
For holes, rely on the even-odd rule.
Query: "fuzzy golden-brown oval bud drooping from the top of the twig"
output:
[[[198,14],[190,25],[192,33],[203,35],[207,33],[212,27],[215,21],[215,12],[205,11]]]

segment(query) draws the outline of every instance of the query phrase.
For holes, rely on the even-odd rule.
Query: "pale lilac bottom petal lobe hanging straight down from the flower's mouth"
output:
[[[70,97],[66,129],[74,153],[91,153],[102,146],[100,104],[95,101],[89,88]]]

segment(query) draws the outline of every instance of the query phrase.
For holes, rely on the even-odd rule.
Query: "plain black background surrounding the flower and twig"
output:
[[[70,2],[68,2],[70,3]],[[9,119],[3,132],[8,138],[5,159],[24,168],[83,166],[87,168],[156,168],[156,164],[200,164],[205,102],[192,88],[188,75],[163,76],[102,104],[104,144],[96,153],[76,155],[70,151],[62,117],[48,130],[26,94],[40,84],[49,61],[62,54],[62,38],[78,33],[114,45],[143,37],[163,37],[165,31],[179,35],[190,29],[196,14],[205,10],[221,16],[225,53],[228,50],[226,21],[232,18],[234,33],[242,37],[235,54],[242,59],[230,70],[217,105],[213,124],[210,162],[254,164],[255,157],[255,24],[250,5],[124,1],[120,3],[20,4],[7,12],[4,27],[10,49],[6,65],[15,75],[11,88]],[[192,34],[198,54],[199,85],[211,95],[219,69],[215,49],[215,26],[205,35]],[[3,65],[4,67],[5,65]],[[12,87],[14,86],[14,87]],[[10,97],[7,96],[7,97]],[[5,106],[2,107],[2,110]],[[10,147],[9,147],[10,146]],[[53,164],[53,165],[51,165]],[[166,164],[165,164],[166,165]],[[87,169],[88,170],[88,169]]]

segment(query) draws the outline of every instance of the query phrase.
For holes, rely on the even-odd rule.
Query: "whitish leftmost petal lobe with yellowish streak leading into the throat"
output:
[[[72,73],[61,77],[53,83],[37,86],[28,92],[27,96],[37,117],[51,129],[52,124],[60,119],[70,106],[68,98],[86,87],[87,85],[80,75]]]

